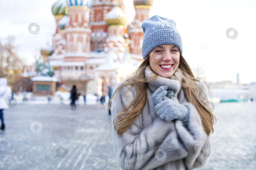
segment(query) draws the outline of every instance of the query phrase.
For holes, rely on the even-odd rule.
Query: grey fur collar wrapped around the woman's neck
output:
[[[177,69],[177,71],[175,71],[174,75],[177,78],[174,75],[170,78],[164,78],[157,75],[154,80],[147,82],[149,90],[154,93],[157,88],[166,85],[169,90],[174,90],[174,96],[177,97],[178,93],[180,92],[180,88],[182,87],[180,83],[180,81],[182,80],[182,75],[180,74],[180,72],[181,70],[179,68]],[[153,79],[155,75],[156,74],[152,71],[151,67],[147,66],[147,68],[145,69],[145,77],[147,78],[147,80]]]

